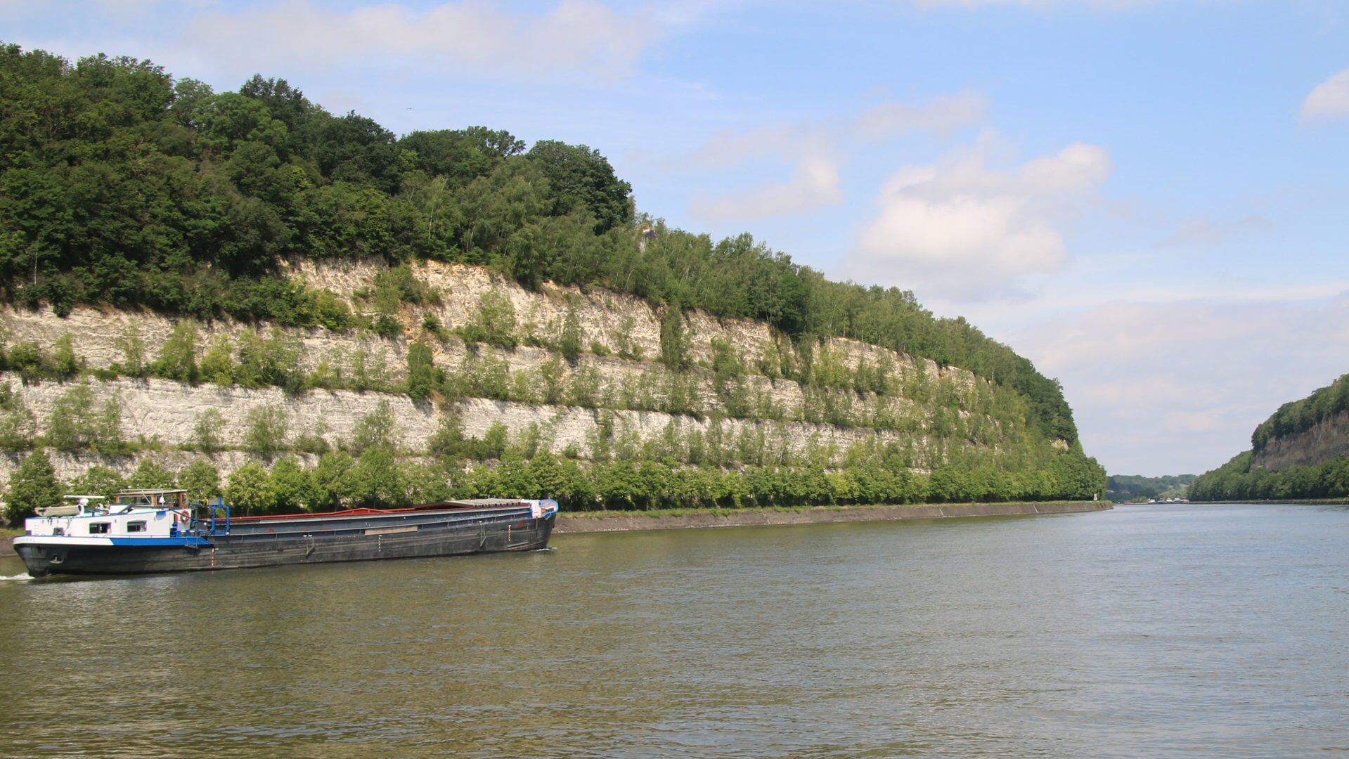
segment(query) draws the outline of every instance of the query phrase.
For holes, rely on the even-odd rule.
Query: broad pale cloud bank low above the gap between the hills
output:
[[[1001,338],[1063,382],[1083,446],[1110,473],[1201,473],[1251,448],[1282,403],[1349,371],[1349,293],[1303,297],[1110,302]]]

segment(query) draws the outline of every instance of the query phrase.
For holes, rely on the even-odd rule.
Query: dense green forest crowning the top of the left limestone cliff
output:
[[[287,259],[490,267],[525,286],[604,286],[679,309],[839,336],[1016,390],[1045,438],[1077,441],[1056,380],[911,291],[838,283],[741,235],[714,243],[635,213],[587,146],[469,127],[395,136],[285,80],[216,93],[134,58],[76,63],[0,44],[0,298],[200,320],[351,326]]]

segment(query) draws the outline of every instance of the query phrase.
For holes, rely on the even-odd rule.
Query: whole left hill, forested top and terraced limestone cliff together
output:
[[[1103,489],[1058,383],[965,320],[630,195],[587,146],[0,46],[0,468],[254,511]]]

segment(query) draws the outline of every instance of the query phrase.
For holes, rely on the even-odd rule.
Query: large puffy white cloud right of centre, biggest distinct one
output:
[[[849,268],[904,287],[979,289],[1060,268],[1066,212],[1090,202],[1110,175],[1097,146],[1071,144],[1012,170],[989,169],[992,132],[973,150],[897,171],[881,189],[881,213],[858,239]]]

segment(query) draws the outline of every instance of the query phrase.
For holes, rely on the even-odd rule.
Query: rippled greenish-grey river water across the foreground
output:
[[[1346,546],[1148,506],[9,578],[0,755],[1349,755]]]

